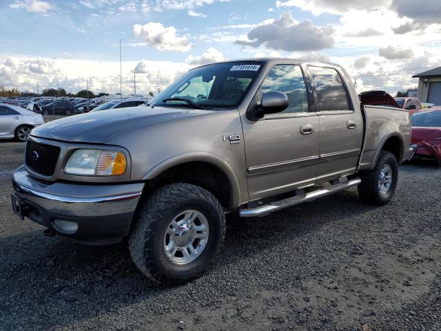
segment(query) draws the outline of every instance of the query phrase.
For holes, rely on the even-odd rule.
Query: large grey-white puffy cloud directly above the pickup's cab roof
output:
[[[277,20],[264,21],[248,32],[249,40],[236,43],[245,46],[265,46],[273,50],[322,50],[334,46],[334,28],[314,26],[311,21],[298,22],[291,13],[283,13]]]

